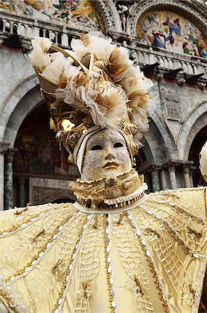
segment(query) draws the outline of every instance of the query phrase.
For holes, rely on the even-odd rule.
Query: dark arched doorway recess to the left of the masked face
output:
[[[33,109],[20,126],[15,140],[13,161],[14,205],[70,202],[68,183],[79,176],[68,163],[68,153],[56,142],[49,129],[49,111],[45,103]]]

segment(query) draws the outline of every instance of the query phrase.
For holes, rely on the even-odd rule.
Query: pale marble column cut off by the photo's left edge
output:
[[[0,141],[0,211],[4,208],[4,154],[10,143]]]

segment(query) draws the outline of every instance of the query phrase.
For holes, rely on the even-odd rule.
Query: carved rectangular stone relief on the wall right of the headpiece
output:
[[[168,120],[180,120],[181,113],[179,109],[178,95],[176,88],[167,86],[160,87],[161,101],[163,104],[164,117]]]

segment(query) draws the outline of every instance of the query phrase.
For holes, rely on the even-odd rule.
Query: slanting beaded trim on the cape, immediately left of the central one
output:
[[[61,287],[61,291],[59,292],[59,298],[57,298],[57,300],[56,300],[54,308],[52,309],[52,313],[61,312],[63,304],[65,303],[66,295],[67,295],[68,289],[70,287],[70,282],[72,279],[72,272],[73,272],[73,269],[75,267],[75,263],[77,261],[77,255],[79,253],[80,243],[81,243],[82,238],[84,236],[84,231],[86,230],[87,225],[89,224],[90,218],[91,218],[91,216],[87,216],[85,218],[82,230],[79,232],[78,239],[75,242],[75,246],[72,250],[72,254],[70,255],[68,268],[66,270],[66,275],[65,275],[65,278],[63,281],[63,285]],[[87,220],[88,220],[88,223],[87,223]]]

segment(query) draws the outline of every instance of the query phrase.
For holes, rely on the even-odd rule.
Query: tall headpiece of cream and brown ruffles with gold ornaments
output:
[[[72,40],[72,50],[64,50],[47,38],[32,40],[29,58],[49,106],[50,127],[68,150],[69,161],[93,126],[121,129],[132,154],[148,127],[147,90],[152,83],[130,61],[128,50],[111,42],[88,33]]]

